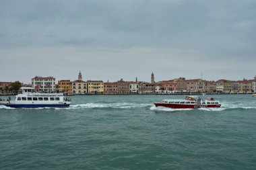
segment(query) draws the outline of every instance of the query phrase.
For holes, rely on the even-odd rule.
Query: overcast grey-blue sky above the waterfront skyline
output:
[[[256,75],[255,0],[1,0],[0,81]]]

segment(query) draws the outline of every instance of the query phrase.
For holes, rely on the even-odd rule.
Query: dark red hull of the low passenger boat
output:
[[[199,109],[199,108],[220,108],[221,104],[175,104],[175,103],[154,103],[156,107],[172,108],[172,109]]]

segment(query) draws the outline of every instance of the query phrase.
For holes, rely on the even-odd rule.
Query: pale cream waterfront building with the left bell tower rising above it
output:
[[[87,93],[87,83],[82,80],[82,73],[79,71],[77,80],[71,82],[72,93],[74,95],[84,95]]]

